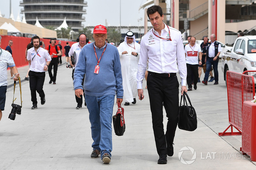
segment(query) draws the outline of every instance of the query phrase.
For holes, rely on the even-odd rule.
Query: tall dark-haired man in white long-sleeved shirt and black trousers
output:
[[[153,28],[140,41],[137,88],[141,100],[144,98],[142,82],[148,60],[147,87],[156,150],[159,155],[157,163],[166,164],[167,155],[173,155],[172,144],[179,119],[179,82],[176,76],[178,71],[181,78],[181,94],[187,92],[186,58],[181,33],[164,24],[162,8],[153,5],[148,8],[147,15]],[[168,117],[166,135],[163,125],[163,102]]]

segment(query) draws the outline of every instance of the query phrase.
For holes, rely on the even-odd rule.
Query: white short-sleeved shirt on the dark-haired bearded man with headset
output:
[[[39,47],[37,51],[34,47],[28,49],[27,60],[30,60],[29,70],[35,72],[45,72],[44,66],[46,62],[51,61],[52,58],[48,51],[42,47]]]

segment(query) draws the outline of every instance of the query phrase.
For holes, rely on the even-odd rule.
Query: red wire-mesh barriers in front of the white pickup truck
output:
[[[219,136],[241,135],[244,101],[253,100],[254,78],[249,75],[227,71],[228,119],[230,125]],[[231,127],[231,132],[226,132]],[[233,132],[233,127],[238,132]]]

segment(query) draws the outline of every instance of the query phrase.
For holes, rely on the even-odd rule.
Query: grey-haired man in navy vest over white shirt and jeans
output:
[[[219,73],[218,73],[218,62],[219,62],[219,55],[221,50],[220,43],[215,41],[216,40],[216,35],[212,34],[210,36],[211,42],[208,42],[206,45],[206,71],[204,75],[204,83],[207,85],[208,78],[209,78],[209,73],[211,71],[211,68],[213,67],[214,71],[214,80],[215,83],[214,85],[219,84]]]

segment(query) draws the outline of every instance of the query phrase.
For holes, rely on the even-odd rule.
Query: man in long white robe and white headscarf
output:
[[[139,63],[140,44],[135,41],[132,31],[128,31],[118,47],[120,62],[122,66],[123,88],[124,88],[124,106],[136,103],[137,82],[136,74]]]

